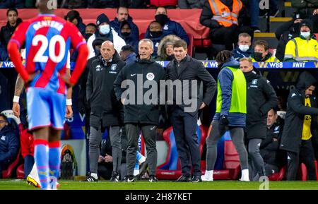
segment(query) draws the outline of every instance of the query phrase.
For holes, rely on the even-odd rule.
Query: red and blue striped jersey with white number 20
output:
[[[86,44],[73,23],[54,14],[39,16],[20,23],[11,37],[18,47],[25,44],[25,68],[30,73],[40,71],[29,87],[47,88],[66,93],[66,86],[59,77],[66,71],[69,49]]]

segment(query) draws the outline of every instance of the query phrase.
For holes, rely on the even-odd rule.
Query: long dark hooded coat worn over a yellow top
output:
[[[282,150],[299,152],[302,140],[302,127],[305,115],[312,116],[311,133],[312,141],[317,144],[318,124],[317,124],[317,98],[310,96],[311,107],[305,106],[305,90],[316,83],[316,79],[307,71],[300,74],[296,88],[290,90],[287,102],[287,112],[285,116],[285,126],[281,138]],[[315,145],[314,144],[314,145]]]

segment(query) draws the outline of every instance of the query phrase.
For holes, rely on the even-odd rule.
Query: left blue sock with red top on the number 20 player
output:
[[[49,189],[49,154],[47,140],[34,140],[34,157],[42,189]]]

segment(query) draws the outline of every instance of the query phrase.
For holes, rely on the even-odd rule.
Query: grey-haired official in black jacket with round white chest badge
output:
[[[139,58],[134,63],[124,66],[114,81],[117,100],[124,104],[124,124],[128,140],[127,176],[124,180],[127,182],[134,181],[140,129],[146,143],[149,181],[158,181],[155,177],[155,140],[159,122],[159,83],[165,79],[165,70],[151,59],[151,54],[153,42],[149,39],[139,41]]]

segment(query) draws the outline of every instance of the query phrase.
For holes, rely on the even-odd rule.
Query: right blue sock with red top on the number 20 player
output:
[[[49,184],[51,189],[57,189],[57,179],[59,178],[59,166],[61,164],[61,142],[49,143]]]

